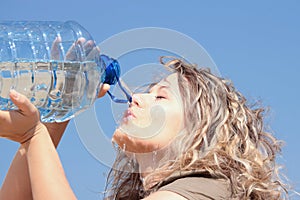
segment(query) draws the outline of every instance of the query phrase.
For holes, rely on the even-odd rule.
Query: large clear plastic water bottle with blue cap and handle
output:
[[[100,55],[74,21],[0,22],[0,110],[17,109],[9,99],[15,89],[39,109],[43,122],[66,121],[94,103],[100,84],[113,85],[119,76],[117,60]],[[119,103],[131,100],[127,93],[123,101],[109,95]]]

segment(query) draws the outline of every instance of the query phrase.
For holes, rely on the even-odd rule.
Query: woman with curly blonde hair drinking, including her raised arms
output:
[[[106,199],[287,198],[275,162],[280,143],[264,130],[264,110],[206,69],[176,58],[162,63],[171,74],[133,94],[113,135],[119,148]],[[0,112],[0,135],[22,145],[0,197],[9,199],[17,182],[27,197],[75,199],[55,151],[59,139],[51,140],[67,123],[45,126],[26,98],[10,96],[20,110]],[[16,163],[25,176],[10,175],[20,173]]]

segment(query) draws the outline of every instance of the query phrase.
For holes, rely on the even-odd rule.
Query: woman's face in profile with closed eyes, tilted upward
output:
[[[168,145],[183,127],[183,103],[174,73],[149,92],[132,96],[113,141],[125,151],[147,153]]]

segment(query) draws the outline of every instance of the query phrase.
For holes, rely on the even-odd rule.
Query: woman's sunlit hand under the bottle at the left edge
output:
[[[9,94],[18,110],[0,111],[0,137],[24,143],[43,128],[37,108],[24,95],[14,90]]]

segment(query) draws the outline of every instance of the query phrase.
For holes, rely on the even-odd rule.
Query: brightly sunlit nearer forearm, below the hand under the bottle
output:
[[[47,131],[42,130],[23,147],[33,199],[76,199]]]

